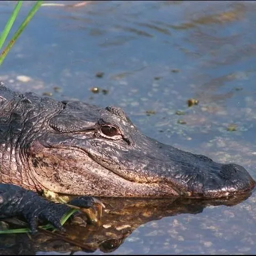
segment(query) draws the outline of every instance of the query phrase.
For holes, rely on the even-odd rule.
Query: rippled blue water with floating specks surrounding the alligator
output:
[[[27,1],[17,23],[30,6]],[[11,1],[0,3],[1,29],[12,9]],[[255,179],[255,12],[255,1],[43,6],[7,56],[0,77],[19,91],[121,106],[149,137],[214,161],[239,163]],[[21,75],[30,81],[19,81]],[[93,93],[93,87],[100,92]],[[189,98],[199,104],[189,108]],[[230,125],[236,131],[229,131]],[[95,227],[81,231],[83,244],[96,244],[91,253],[112,254],[256,252],[255,193],[231,207],[169,202],[166,208],[162,203],[132,203],[123,220],[116,217],[116,225],[126,227],[119,226],[118,234],[109,231],[114,240],[105,245],[112,250],[99,246],[106,237]],[[147,218],[137,221],[134,212]],[[46,240],[6,236],[4,245],[15,253],[85,253],[79,246],[50,246]]]

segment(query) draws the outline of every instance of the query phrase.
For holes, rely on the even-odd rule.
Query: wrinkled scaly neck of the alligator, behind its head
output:
[[[51,101],[34,93],[12,93],[0,98],[0,182],[30,190],[42,189],[29,171],[26,153],[30,144],[46,129],[49,118],[61,109],[60,102],[55,103],[51,111],[45,109],[48,106],[45,102]]]

